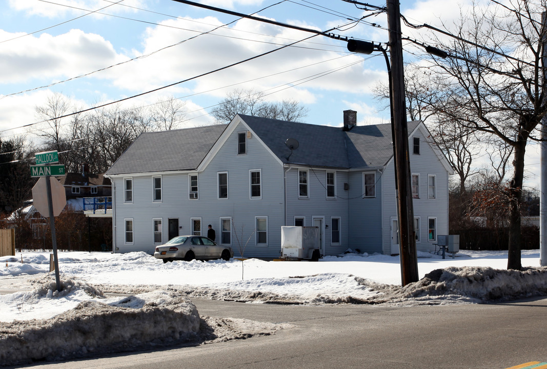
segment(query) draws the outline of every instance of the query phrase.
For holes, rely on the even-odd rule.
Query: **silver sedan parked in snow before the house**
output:
[[[164,262],[173,260],[230,260],[234,257],[231,247],[217,245],[216,242],[203,236],[177,236],[156,247],[156,259]]]

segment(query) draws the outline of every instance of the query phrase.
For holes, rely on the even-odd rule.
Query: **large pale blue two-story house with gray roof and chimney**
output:
[[[281,226],[301,225],[319,227],[323,255],[398,254],[391,125],[346,114],[344,127],[236,115],[142,133],[106,173],[114,250],[153,253],[211,224],[236,256],[278,257]],[[452,169],[422,122],[408,127],[416,245],[433,250],[448,231]]]

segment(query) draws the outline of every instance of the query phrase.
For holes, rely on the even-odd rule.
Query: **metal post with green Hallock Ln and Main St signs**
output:
[[[53,245],[53,262],[55,265],[55,284],[57,291],[61,292],[61,278],[59,277],[59,257],[57,256],[57,236],[55,234],[55,218],[53,214],[53,198],[51,197],[52,175],[65,175],[64,165],[50,165],[59,162],[57,151],[48,151],[38,153],[36,156],[36,166],[31,166],[32,177],[45,177],[46,196],[48,197],[49,225],[51,228],[51,243]],[[34,195],[33,195],[34,197]]]

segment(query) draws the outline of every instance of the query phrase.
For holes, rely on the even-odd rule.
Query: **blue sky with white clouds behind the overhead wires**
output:
[[[340,27],[332,32],[345,37],[388,40],[385,13],[355,24],[351,20],[373,11],[342,0],[198,2],[245,14],[268,7],[258,16],[318,31]],[[468,7],[469,2],[404,0],[401,13],[415,24],[441,26],[441,22],[450,24],[452,17],[458,17],[459,8]],[[385,1],[369,3],[385,5]],[[488,1],[479,3],[487,5]],[[77,109],[86,109],[193,78],[311,36],[171,0],[5,0],[0,2],[0,12],[0,137],[4,138],[21,132],[31,139],[36,137],[43,125],[13,128],[38,122],[34,108],[44,106],[53,92],[62,93]],[[424,38],[423,31],[403,28],[403,32],[418,40]],[[413,47],[404,45],[406,51]],[[136,57],[140,58],[129,61]],[[405,54],[405,60],[411,57]],[[107,68],[118,63],[122,64]],[[58,83],[103,68],[107,69]],[[309,109],[307,123],[340,126],[343,110],[353,109],[358,112],[358,124],[375,124],[389,118],[371,93],[379,81],[387,81],[385,61],[379,53],[351,54],[346,42],[317,36],[225,71],[129,99],[119,108],[149,106],[176,97],[185,102],[188,112],[188,121],[181,127],[213,124],[208,115],[211,107],[238,88],[263,91],[272,102],[299,101]],[[30,91],[22,92],[26,90]]]

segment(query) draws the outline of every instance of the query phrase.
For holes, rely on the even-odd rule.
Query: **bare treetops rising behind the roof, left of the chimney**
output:
[[[285,99],[281,103],[267,103],[264,101],[264,92],[234,90],[211,110],[211,115],[219,123],[230,122],[236,114],[300,121],[307,116],[307,109],[295,100]]]

